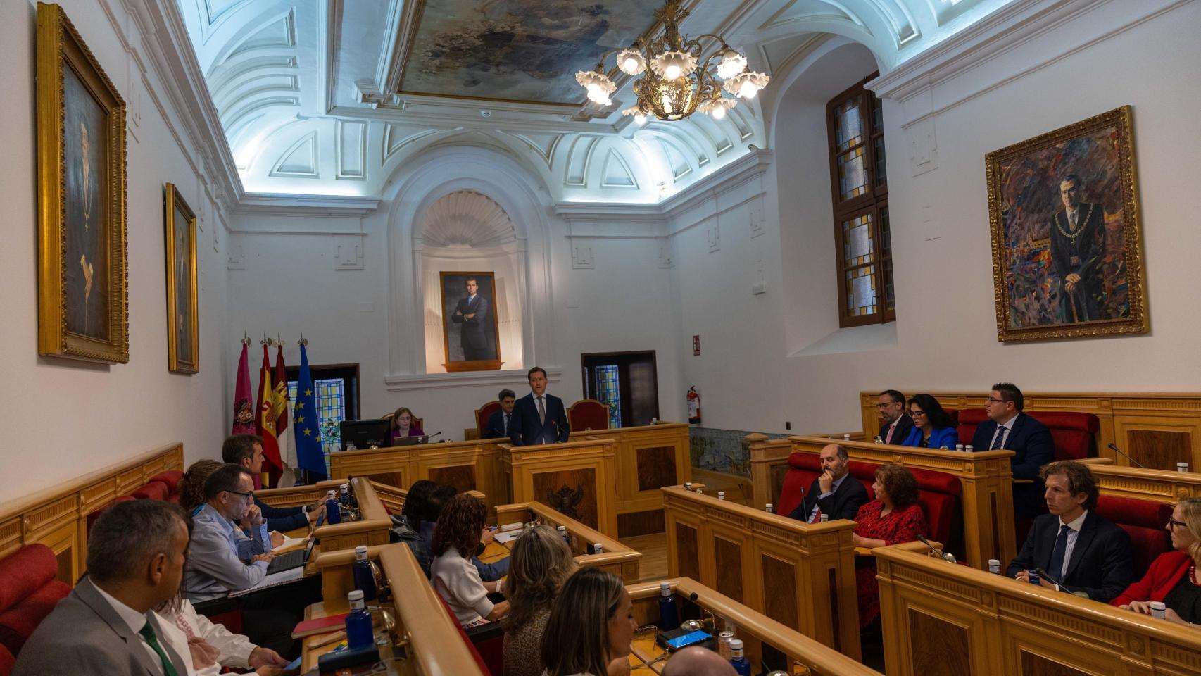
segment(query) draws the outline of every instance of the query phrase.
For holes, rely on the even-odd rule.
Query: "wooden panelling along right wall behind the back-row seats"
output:
[[[913,390],[920,391],[920,390]],[[909,391],[907,394],[913,394]],[[932,391],[945,408],[984,408],[987,390]],[[1177,462],[1201,467],[1201,394],[1197,393],[1023,393],[1024,411],[1071,411],[1092,413],[1100,420],[1097,453],[1117,465],[1125,457],[1107,447],[1122,450],[1148,467],[1175,469]],[[867,438],[880,429],[876,402],[879,391],[859,393],[864,432]]]

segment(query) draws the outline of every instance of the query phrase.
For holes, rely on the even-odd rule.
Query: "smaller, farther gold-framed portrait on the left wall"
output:
[[[196,213],[175,184],[163,189],[167,243],[167,370],[201,370],[201,334],[197,322]]]

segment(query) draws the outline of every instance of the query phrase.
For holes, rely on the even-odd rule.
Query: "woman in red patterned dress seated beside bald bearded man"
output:
[[[926,516],[918,502],[918,480],[900,465],[882,465],[872,484],[876,499],[859,508],[852,542],[855,546],[878,548],[908,543],[926,532]],[[859,627],[880,616],[880,588],[876,582],[876,560],[856,560],[855,587],[859,591]]]

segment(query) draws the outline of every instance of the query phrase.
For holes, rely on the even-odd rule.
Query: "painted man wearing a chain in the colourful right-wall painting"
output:
[[[1083,191],[1080,177],[1064,177],[1063,209],[1051,217],[1051,267],[1059,275],[1059,315],[1065,323],[1105,318],[1105,207],[1081,202]]]

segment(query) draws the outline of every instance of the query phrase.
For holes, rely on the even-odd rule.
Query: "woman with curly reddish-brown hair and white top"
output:
[[[430,579],[464,628],[500,620],[509,611],[509,602],[494,605],[488,599],[488,594],[500,591],[501,582],[483,581],[471,562],[486,516],[483,502],[459,493],[442,508],[434,526],[430,550],[436,557],[430,566]]]

